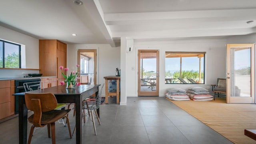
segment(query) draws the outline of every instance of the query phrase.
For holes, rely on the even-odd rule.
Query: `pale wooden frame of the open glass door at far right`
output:
[[[231,48],[251,48],[251,96],[231,97]],[[226,102],[229,103],[255,103],[255,44],[227,44],[227,75],[226,75]]]

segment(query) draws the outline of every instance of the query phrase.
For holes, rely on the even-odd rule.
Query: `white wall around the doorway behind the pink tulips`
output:
[[[109,44],[68,44],[67,67],[72,68],[77,63],[78,49],[97,50],[97,84],[105,83],[104,76],[115,76],[116,68],[120,68],[120,47],[112,48]],[[105,87],[102,95],[105,95]]]

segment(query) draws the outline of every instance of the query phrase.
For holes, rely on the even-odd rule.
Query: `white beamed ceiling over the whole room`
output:
[[[111,46],[120,37],[149,41],[256,32],[256,0],[81,1],[0,0],[0,25],[38,39]]]

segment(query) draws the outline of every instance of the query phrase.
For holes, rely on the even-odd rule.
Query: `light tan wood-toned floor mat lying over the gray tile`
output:
[[[226,104],[224,98],[170,102],[235,144],[256,144],[244,135],[244,129],[256,129],[256,104]]]

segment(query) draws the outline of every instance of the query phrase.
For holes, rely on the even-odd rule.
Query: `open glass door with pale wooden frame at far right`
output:
[[[254,44],[227,45],[227,103],[255,103]]]

